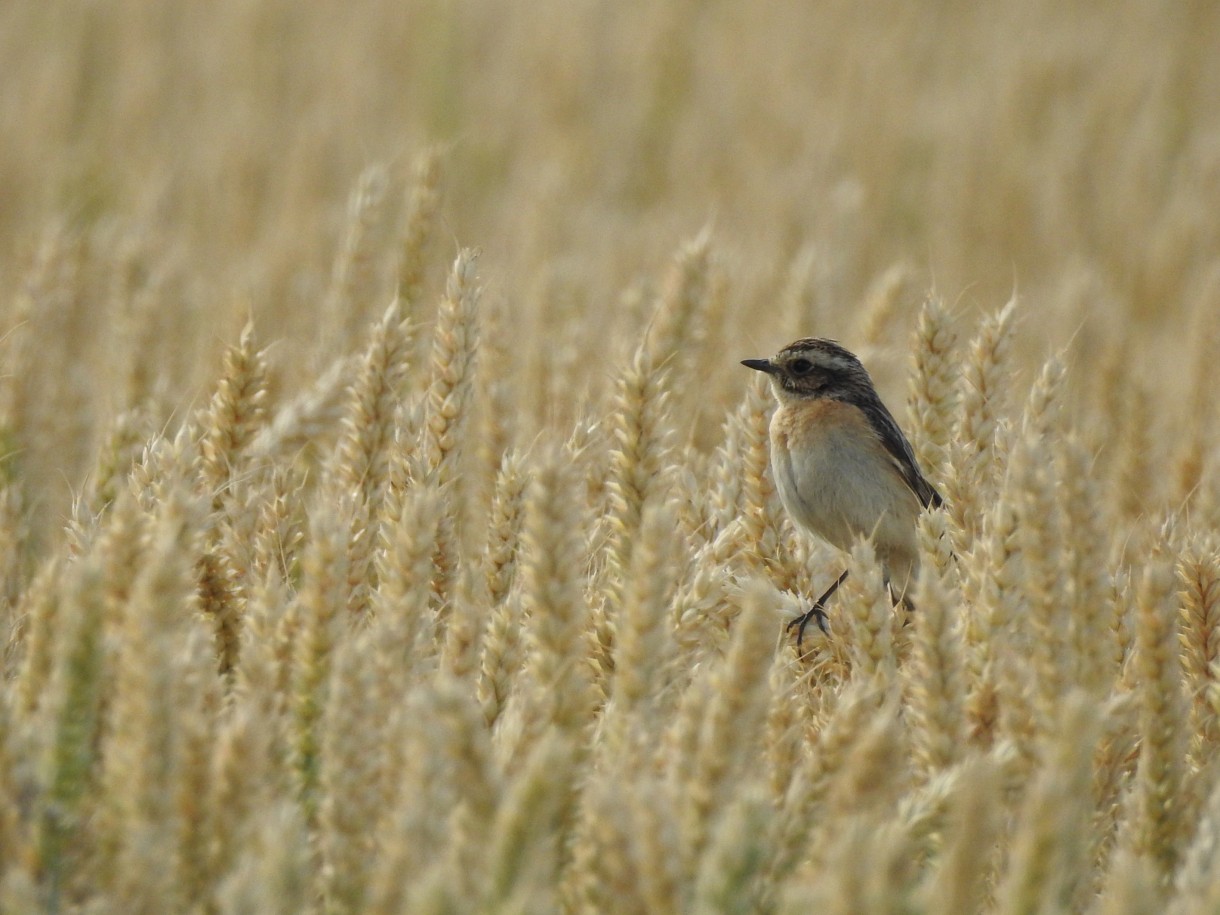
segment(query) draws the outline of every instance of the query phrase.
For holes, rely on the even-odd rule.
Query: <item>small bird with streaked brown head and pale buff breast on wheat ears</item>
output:
[[[844,551],[870,538],[894,603],[911,606],[905,592],[919,571],[916,520],[943,500],[864,364],[834,340],[806,337],[742,365],[770,376],[778,401],[771,472],[788,516]],[[826,631],[825,604],[845,580],[844,571],[788,623],[798,627],[798,650],[810,620]]]

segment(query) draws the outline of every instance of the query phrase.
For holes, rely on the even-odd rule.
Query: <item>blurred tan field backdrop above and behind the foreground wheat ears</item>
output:
[[[7,0],[9,450],[62,500],[123,410],[198,406],[249,316],[278,390],[307,386],[393,295],[428,150],[425,289],[482,250],[538,425],[595,401],[705,233],[716,416],[738,359],[802,334],[900,403],[935,289],[964,333],[1016,292],[1031,366],[1066,349],[1168,428],[1218,350],[1218,49],[1210,0]]]

